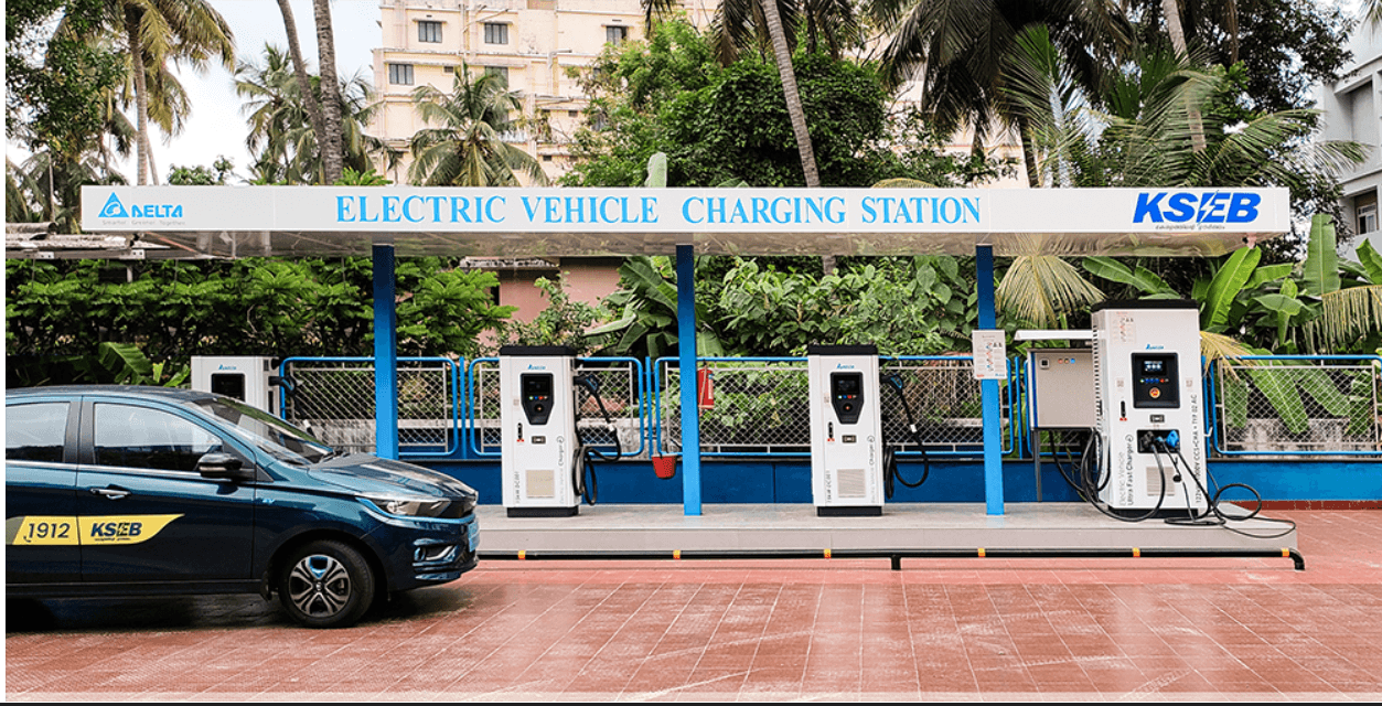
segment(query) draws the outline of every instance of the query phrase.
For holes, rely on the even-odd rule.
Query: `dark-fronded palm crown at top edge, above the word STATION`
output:
[[[891,33],[884,79],[898,86],[919,70],[922,108],[941,134],[970,126],[981,145],[992,127],[1016,126],[1034,187],[1028,126],[1002,95],[1003,58],[1019,33],[1034,23],[1050,28],[1074,80],[1090,94],[1104,68],[1133,44],[1132,25],[1114,0],[876,0],[872,11]]]

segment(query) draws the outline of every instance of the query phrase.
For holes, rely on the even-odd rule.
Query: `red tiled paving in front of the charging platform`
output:
[[[489,562],[350,630],[8,605],[10,700],[1371,700],[1382,511],[1280,560]]]

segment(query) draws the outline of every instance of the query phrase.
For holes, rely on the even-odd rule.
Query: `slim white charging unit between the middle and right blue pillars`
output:
[[[883,514],[878,348],[808,345],[811,500],[818,517]]]

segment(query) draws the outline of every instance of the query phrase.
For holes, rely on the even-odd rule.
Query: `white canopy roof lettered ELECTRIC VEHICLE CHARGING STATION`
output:
[[[1220,256],[1289,229],[1285,189],[83,187],[82,228],[189,257]]]

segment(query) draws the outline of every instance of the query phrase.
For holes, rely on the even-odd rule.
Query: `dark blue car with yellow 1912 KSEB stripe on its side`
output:
[[[152,387],[6,391],[6,591],[258,593],[344,627],[475,566],[475,490],[341,455],[256,408]]]

